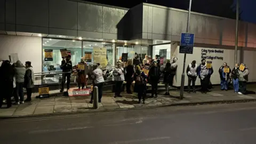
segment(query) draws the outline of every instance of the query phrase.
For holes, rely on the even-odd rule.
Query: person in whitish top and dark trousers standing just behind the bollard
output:
[[[105,80],[103,78],[103,72],[98,65],[93,65],[91,76],[93,78],[93,90],[94,90],[94,86],[98,87],[98,97],[99,97],[98,102],[101,102],[102,89],[103,89]],[[91,97],[90,103],[93,103],[93,91],[92,91],[92,97]]]

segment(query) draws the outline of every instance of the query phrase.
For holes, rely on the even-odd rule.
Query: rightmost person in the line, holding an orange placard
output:
[[[246,86],[248,82],[249,69],[245,66],[244,70],[239,70],[239,92],[238,94],[246,94]]]

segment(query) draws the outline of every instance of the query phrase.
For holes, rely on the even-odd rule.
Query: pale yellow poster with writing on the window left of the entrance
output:
[[[93,47],[93,63],[100,63],[103,67],[107,66],[108,61],[106,47]]]

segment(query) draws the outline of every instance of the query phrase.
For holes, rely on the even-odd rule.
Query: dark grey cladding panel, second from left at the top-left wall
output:
[[[16,24],[29,26],[49,26],[48,1],[16,1]]]

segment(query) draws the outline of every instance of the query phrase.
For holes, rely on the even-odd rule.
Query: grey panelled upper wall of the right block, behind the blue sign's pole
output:
[[[144,39],[180,41],[186,32],[188,11],[143,3]],[[235,45],[235,20],[191,12],[189,33],[195,43]],[[238,45],[256,47],[256,25],[239,22]]]

